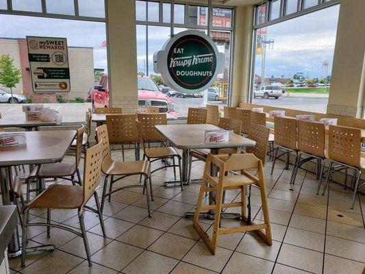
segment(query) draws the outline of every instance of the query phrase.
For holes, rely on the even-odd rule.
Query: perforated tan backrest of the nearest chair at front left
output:
[[[84,161],[84,182],[83,182],[83,202],[92,195],[101,180],[101,163],[103,158],[103,139],[95,145],[86,149]]]

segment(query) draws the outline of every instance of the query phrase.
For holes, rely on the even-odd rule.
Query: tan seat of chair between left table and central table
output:
[[[119,162],[112,159],[105,159],[101,170],[106,175],[136,175],[143,174],[149,177],[151,174],[151,164],[149,161]]]

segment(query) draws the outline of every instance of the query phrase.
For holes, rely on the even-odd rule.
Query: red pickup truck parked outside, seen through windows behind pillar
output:
[[[109,107],[109,82],[108,75],[103,75],[99,86],[92,92],[93,108]],[[158,85],[150,77],[138,76],[138,107],[157,107],[160,113],[176,116],[175,102],[162,93]]]

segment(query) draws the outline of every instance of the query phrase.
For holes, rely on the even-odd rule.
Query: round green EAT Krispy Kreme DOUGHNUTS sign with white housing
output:
[[[188,30],[168,40],[153,55],[153,69],[171,88],[197,93],[212,86],[223,73],[225,56],[203,32]]]

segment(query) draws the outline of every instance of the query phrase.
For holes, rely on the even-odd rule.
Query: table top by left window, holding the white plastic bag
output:
[[[43,122],[40,120],[27,121],[25,114],[11,114],[0,119],[0,127],[41,127],[49,125],[61,125],[61,121]]]

